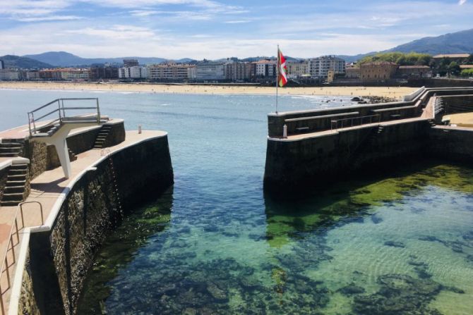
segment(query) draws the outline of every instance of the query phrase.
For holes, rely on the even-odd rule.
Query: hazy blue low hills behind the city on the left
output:
[[[162,63],[167,61],[164,58],[153,58],[153,57],[120,57],[120,58],[81,58],[79,56],[69,54],[66,51],[49,51],[43,54],[37,55],[25,55],[24,57],[32,58],[37,61],[52,64],[58,67],[73,67],[73,66],[90,66],[92,64],[101,63],[115,63],[122,64],[124,59],[138,59],[141,65],[150,63]],[[192,59],[184,58],[176,60],[176,62],[184,63],[190,62]]]

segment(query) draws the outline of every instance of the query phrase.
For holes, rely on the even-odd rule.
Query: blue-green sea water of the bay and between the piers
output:
[[[471,169],[428,163],[273,200],[265,96],[0,90],[14,114],[1,129],[79,95],[130,130],[167,130],[176,181],[109,237],[80,314],[471,314]],[[282,97],[281,110],[322,100]]]

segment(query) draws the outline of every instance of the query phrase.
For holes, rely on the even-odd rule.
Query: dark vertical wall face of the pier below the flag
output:
[[[268,139],[265,190],[325,187],[356,173],[377,173],[409,163],[426,148],[428,121],[356,128],[287,141]]]

